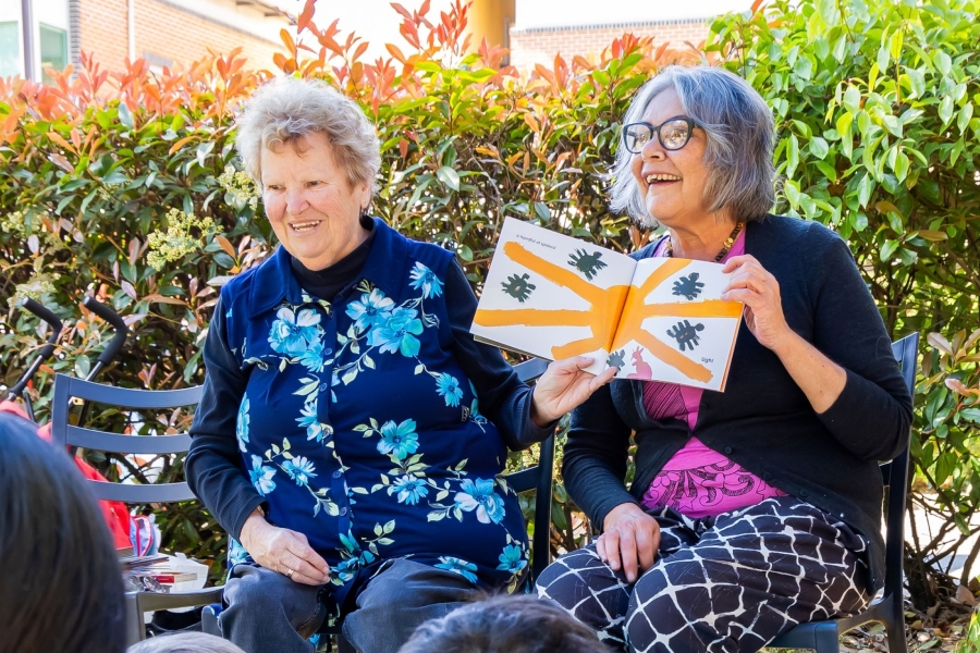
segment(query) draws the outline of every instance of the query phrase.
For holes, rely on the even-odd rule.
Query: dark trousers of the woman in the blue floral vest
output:
[[[313,653],[309,637],[326,617],[320,589],[237,565],[224,589],[221,632],[246,653]],[[449,614],[477,591],[457,574],[392,560],[357,595],[343,633],[360,653],[395,653],[422,621]]]

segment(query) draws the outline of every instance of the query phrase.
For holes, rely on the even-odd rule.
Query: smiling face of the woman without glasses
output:
[[[322,133],[274,150],[262,148],[261,171],[262,202],[272,231],[306,268],[328,268],[367,237],[359,215],[370,200],[370,186],[351,186]]]

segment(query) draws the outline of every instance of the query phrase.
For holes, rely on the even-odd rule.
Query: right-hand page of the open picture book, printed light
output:
[[[743,304],[724,301],[724,266],[679,258],[638,261],[609,365],[617,379],[723,391]]]

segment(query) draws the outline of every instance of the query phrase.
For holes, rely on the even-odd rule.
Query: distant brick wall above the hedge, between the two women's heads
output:
[[[613,39],[626,33],[652,36],[656,45],[670,41],[674,47],[683,48],[684,41],[690,41],[698,46],[708,37],[708,20],[511,29],[511,63],[527,70],[536,63],[550,66],[559,53],[565,59],[575,54],[599,54]]]

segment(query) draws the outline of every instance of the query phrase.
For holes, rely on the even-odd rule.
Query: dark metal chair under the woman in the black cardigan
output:
[[[912,333],[892,343],[892,355],[902,369],[909,395],[916,396],[916,358],[919,334]],[[908,447],[891,463],[881,466],[885,485],[885,586],[881,599],[854,617],[800,624],[784,632],[769,646],[774,649],[813,649],[817,653],[838,653],[840,636],[869,621],[885,627],[891,653],[907,653],[905,611],[902,599],[902,562],[905,547],[905,502],[908,495]]]

